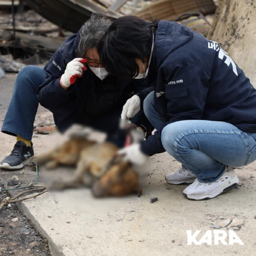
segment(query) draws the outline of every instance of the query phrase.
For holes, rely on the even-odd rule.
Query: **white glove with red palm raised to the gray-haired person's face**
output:
[[[64,87],[68,88],[74,84],[77,77],[81,77],[83,72],[87,70],[85,64],[87,59],[75,58],[70,61],[66,67],[64,74],[61,76],[61,83]]]

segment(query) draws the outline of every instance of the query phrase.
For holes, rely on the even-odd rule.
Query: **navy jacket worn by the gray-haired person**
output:
[[[140,88],[135,86],[134,79],[131,81],[107,76],[101,81],[88,68],[68,90],[64,90],[59,83],[60,77],[67,64],[77,57],[79,40],[78,32],[57,49],[45,66],[46,78],[37,90],[40,104],[53,113],[60,131],[65,131],[72,123],[83,123],[84,117],[89,115],[90,118],[90,114],[100,117],[107,112],[121,111],[134,91],[145,88],[143,84]]]

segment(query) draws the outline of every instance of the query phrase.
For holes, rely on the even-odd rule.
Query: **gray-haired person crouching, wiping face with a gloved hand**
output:
[[[85,124],[106,132],[110,141],[122,146],[111,134],[135,85],[109,75],[100,63],[96,46],[111,23],[110,18],[93,15],[57,49],[44,69],[26,66],[19,72],[1,128],[16,136],[17,142],[1,168],[20,169],[33,157],[31,139],[39,103],[53,113],[61,132],[73,123]],[[133,122],[144,132],[152,128],[143,113]]]

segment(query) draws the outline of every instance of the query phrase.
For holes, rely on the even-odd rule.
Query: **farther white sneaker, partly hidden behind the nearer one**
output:
[[[195,174],[183,167],[165,176],[167,183],[174,185],[191,184],[195,179]]]

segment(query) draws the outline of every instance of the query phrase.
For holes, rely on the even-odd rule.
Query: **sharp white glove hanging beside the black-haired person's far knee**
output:
[[[123,106],[121,118],[126,120],[134,117],[140,111],[140,97],[133,95]]]

